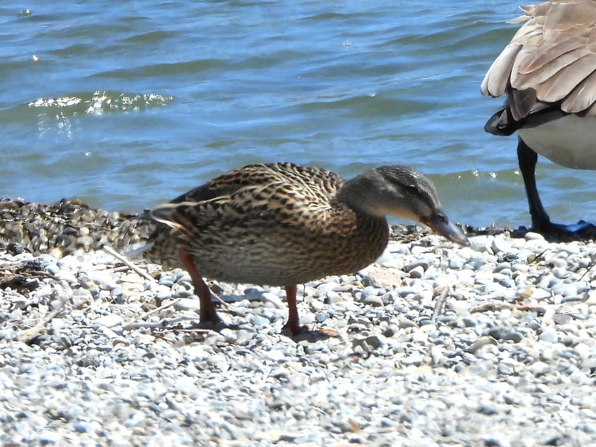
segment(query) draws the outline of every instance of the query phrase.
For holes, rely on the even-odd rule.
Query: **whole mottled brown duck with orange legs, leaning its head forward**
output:
[[[160,224],[145,257],[190,274],[201,322],[219,322],[201,276],[231,283],[281,285],[290,309],[284,328],[303,330],[296,284],[356,272],[389,241],[384,215],[420,221],[466,244],[449,224],[421,173],[383,166],[349,181],[316,167],[250,164],[148,212]]]

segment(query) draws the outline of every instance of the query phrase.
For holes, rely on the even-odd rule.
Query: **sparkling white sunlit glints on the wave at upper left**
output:
[[[166,105],[173,97],[158,94],[126,94],[97,91],[85,98],[85,95],[65,96],[58,98],[39,98],[32,101],[29,107],[68,107],[67,114],[93,113],[103,114],[109,111],[144,110],[145,108]]]

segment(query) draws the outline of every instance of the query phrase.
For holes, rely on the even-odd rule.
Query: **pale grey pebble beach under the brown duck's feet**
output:
[[[117,254],[149,229],[0,201],[0,445],[587,446],[596,443],[596,244],[398,226],[377,263],[283,288]],[[44,228],[40,232],[39,228]]]

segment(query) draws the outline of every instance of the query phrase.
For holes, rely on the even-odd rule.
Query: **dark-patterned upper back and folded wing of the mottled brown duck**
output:
[[[150,218],[182,238],[208,232],[293,227],[325,231],[337,223],[334,204],[343,180],[334,173],[290,163],[254,164],[226,173],[170,203]],[[329,230],[331,231],[331,230]]]

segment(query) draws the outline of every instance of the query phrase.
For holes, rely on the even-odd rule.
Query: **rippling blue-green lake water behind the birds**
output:
[[[516,138],[480,82],[516,1],[33,0],[0,7],[0,196],[136,212],[254,162],[408,164],[449,217],[529,224]],[[541,158],[554,221],[594,172]]]

